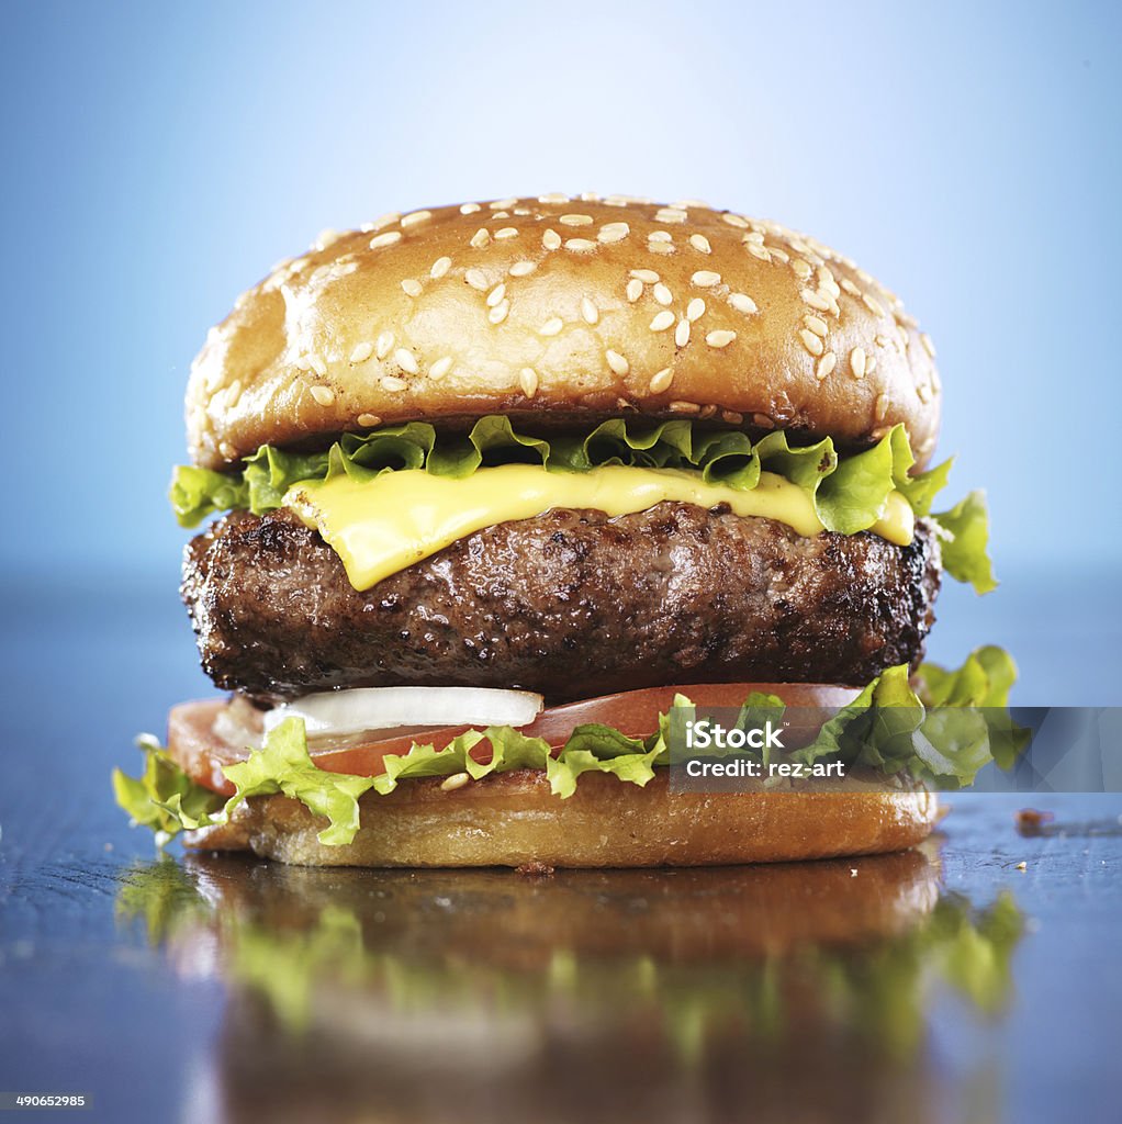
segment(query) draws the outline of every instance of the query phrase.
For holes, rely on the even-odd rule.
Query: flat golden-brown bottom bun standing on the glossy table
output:
[[[343,846],[320,843],[326,821],[284,796],[251,798],[229,823],[189,832],[187,845],[304,867],[703,867],[899,851],[939,819],[934,794],[872,773],[720,794],[671,792],[663,770],[645,788],[589,773],[565,800],[535,769],[452,791],[441,783],[368,792]]]

